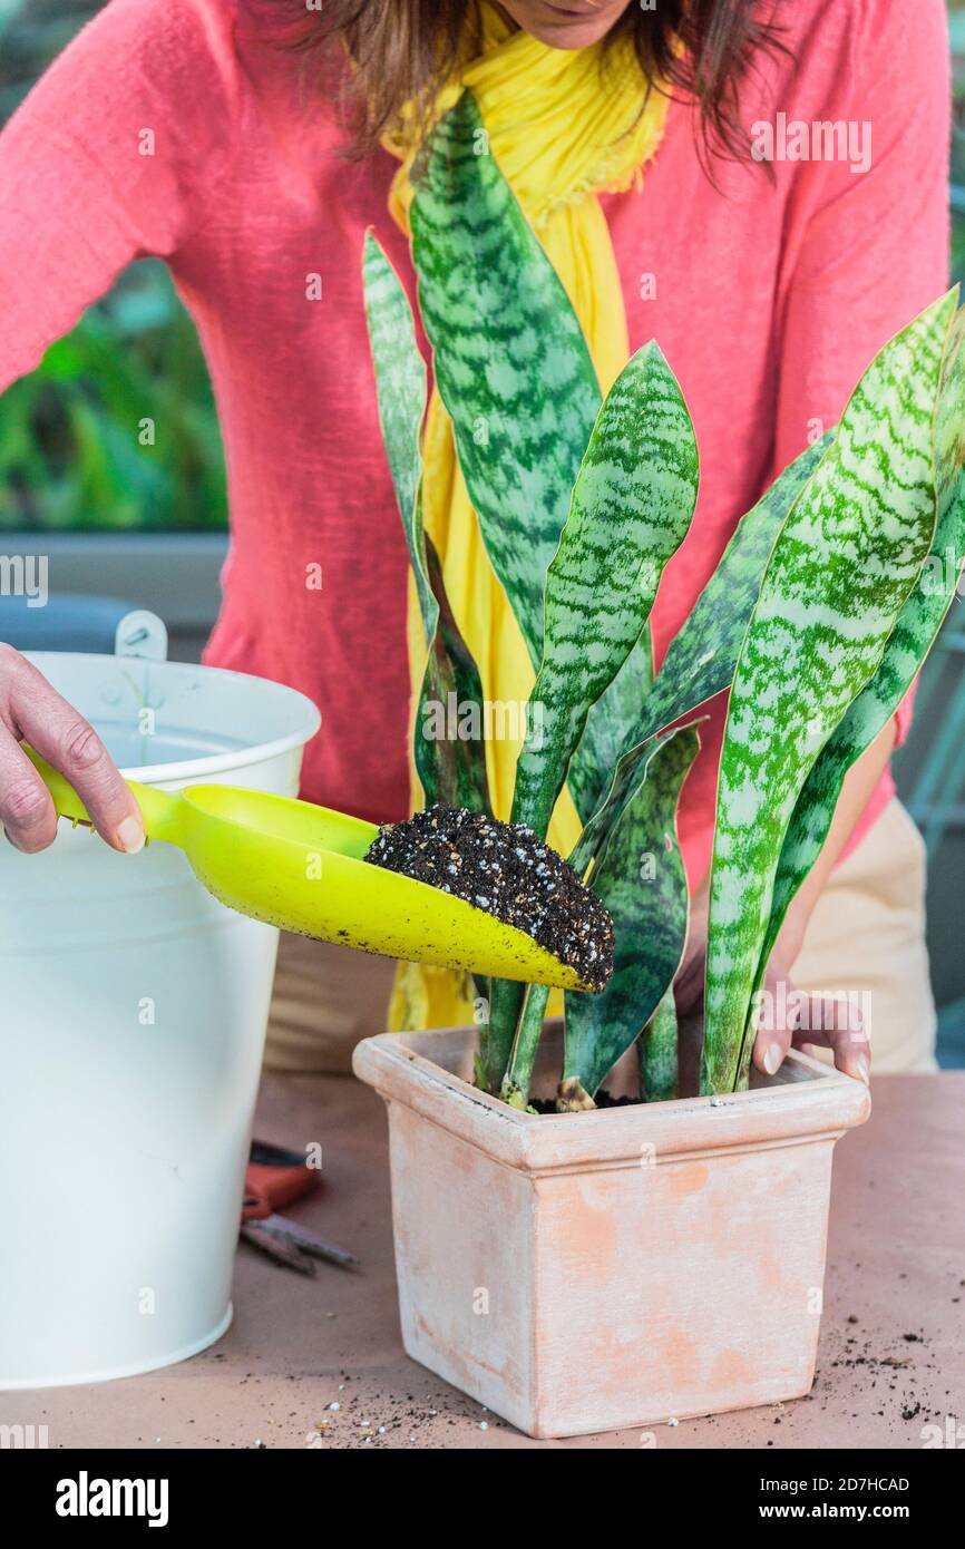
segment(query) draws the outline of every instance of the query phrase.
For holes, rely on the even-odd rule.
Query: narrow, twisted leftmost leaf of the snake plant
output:
[[[415,768],[426,802],[445,801],[488,812],[482,683],[452,617],[441,565],[421,520],[426,367],[406,293],[372,234],[366,237],[362,254],[362,288],[383,441],[429,652],[415,717]]]

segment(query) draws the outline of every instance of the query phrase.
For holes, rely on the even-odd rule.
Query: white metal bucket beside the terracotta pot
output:
[[[130,778],[296,795],[319,714],[293,689],[33,660]],[[0,843],[0,1388],[150,1371],[228,1327],[277,948],[172,846],[60,829]]]

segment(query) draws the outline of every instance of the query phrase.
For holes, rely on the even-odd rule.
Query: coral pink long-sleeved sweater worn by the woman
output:
[[[700,445],[694,528],[654,609],[658,660],[739,516],[946,283],[945,8],[911,9],[781,0],[793,60],[743,93],[748,130],[779,112],[844,121],[858,155],[871,135],[866,170],[779,160],[771,183],[719,164],[716,191],[675,104],[643,192],[606,200],[630,344],[660,341]],[[366,342],[366,228],[409,283],[410,262],[386,212],[395,164],[335,155],[333,118],[277,46],[277,0],[112,0],[29,94],[0,136],[0,389],[130,259],[167,260],[228,455],[232,541],[206,660],[319,703],[310,798],[398,818],[406,550]],[[305,586],[314,564],[321,592]],[[682,807],[691,875],[709,858],[723,709]],[[886,776],[858,835],[891,793]]]

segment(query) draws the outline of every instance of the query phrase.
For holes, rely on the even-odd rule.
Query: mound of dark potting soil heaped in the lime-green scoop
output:
[[[367,861],[451,892],[525,931],[603,990],[613,970],[613,922],[573,867],[522,823],[441,804],[387,823]]]

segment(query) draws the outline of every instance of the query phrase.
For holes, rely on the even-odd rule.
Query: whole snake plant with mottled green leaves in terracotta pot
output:
[[[847,768],[920,669],[965,561],[965,324],[950,293],[884,345],[841,423],[737,524],[654,675],[647,620],[697,502],[686,403],[655,342],[599,392],[556,273],[494,156],[479,153],[480,127],[469,91],[437,127],[412,204],[412,256],[460,468],[536,675],[528,708],[544,734],[520,750],[511,818],[544,838],[565,785],[582,821],[568,860],[615,922],[607,988],[565,998],[558,1108],[595,1106],[634,1046],[641,1097],[677,1095],[672,981],[688,929],[677,812],[703,706],[723,694],[702,1090],[739,1089],[788,903]],[[412,313],[372,235],[362,268],[424,627],[421,697],[455,686],[482,703],[421,522],[426,369]],[[929,555],[950,553],[959,570],[945,592],[920,586]],[[426,799],[489,810],[483,744],[428,742],[418,725]],[[477,1080],[527,1106],[547,991],[477,988],[489,1001]]]

